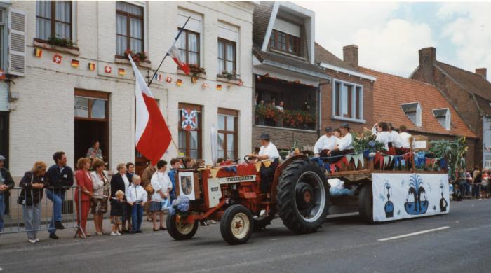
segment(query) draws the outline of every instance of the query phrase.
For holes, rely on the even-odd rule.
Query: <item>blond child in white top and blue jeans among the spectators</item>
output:
[[[131,179],[133,184],[128,188],[126,200],[131,204],[131,233],[142,233],[143,207],[147,201],[147,191],[140,185],[142,179],[137,174],[133,174]]]

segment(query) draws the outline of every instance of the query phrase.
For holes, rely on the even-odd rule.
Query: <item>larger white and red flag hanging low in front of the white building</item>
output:
[[[133,66],[136,78],[136,149],[145,158],[148,158],[152,165],[156,165],[157,161],[166,153],[170,141],[172,141],[172,135],[152,92],[145,84],[140,70],[137,69],[135,62],[129,55],[128,59]]]

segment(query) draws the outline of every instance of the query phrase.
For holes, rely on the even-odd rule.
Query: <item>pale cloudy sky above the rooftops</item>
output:
[[[314,10],[316,41],[341,59],[356,44],[361,66],[408,77],[433,46],[440,62],[491,78],[491,3],[294,2]]]

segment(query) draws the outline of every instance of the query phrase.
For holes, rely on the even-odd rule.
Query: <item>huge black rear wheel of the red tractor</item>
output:
[[[311,160],[296,160],[283,170],[276,188],[278,214],[292,232],[315,232],[329,211],[329,184]]]

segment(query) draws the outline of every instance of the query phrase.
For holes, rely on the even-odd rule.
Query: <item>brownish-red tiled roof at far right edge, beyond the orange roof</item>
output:
[[[436,65],[467,91],[491,101],[491,83],[485,78],[443,62],[437,61]]]

